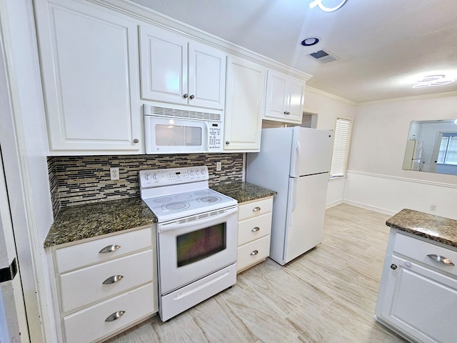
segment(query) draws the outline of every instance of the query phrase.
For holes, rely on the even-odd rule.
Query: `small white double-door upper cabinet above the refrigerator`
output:
[[[301,124],[306,81],[268,70],[264,119]]]

